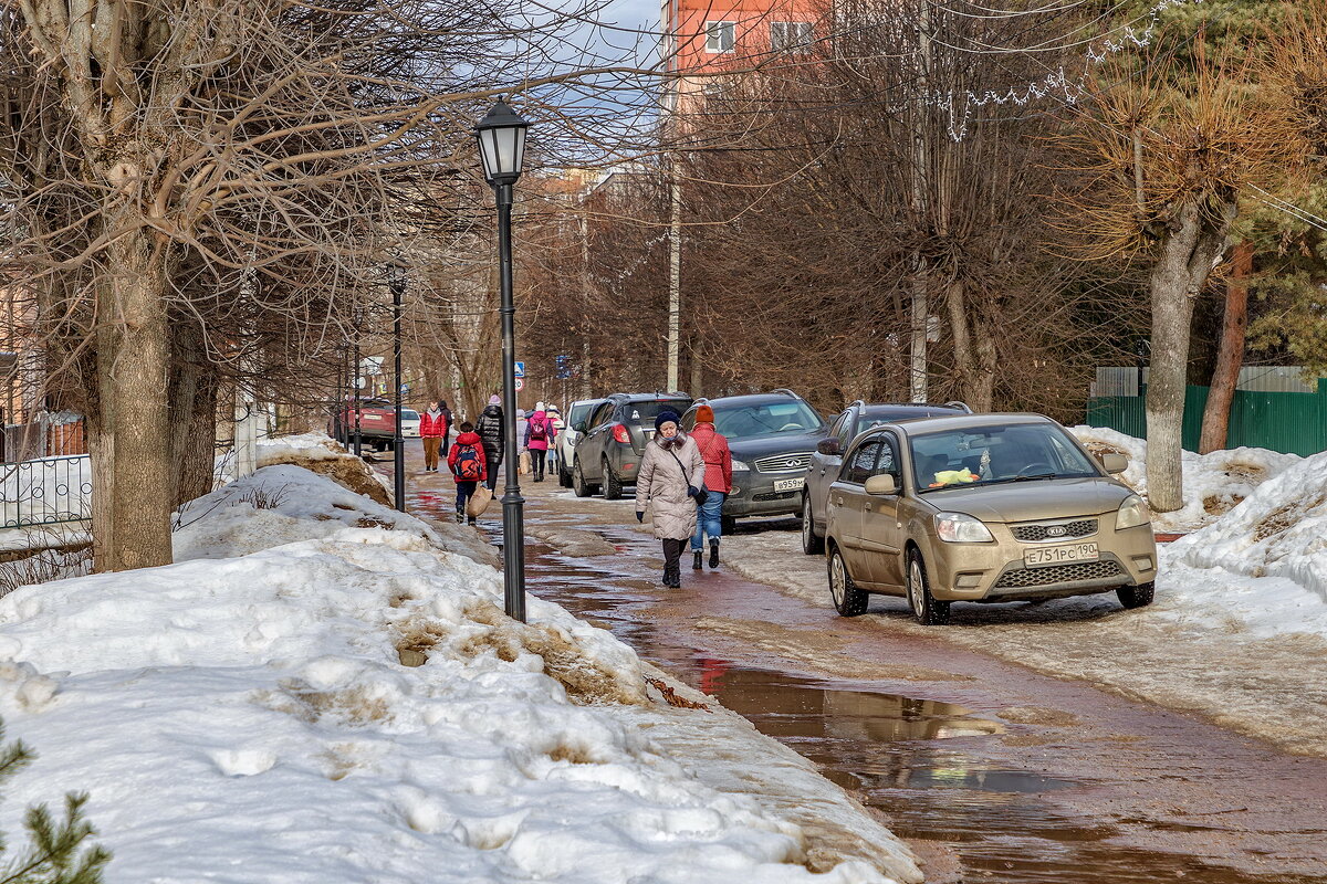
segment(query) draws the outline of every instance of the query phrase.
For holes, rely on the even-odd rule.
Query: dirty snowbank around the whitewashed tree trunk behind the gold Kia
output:
[[[1079,441],[1095,455],[1116,452],[1129,459],[1119,476],[1144,497],[1148,493],[1147,443],[1104,427],[1072,427]],[[1162,531],[1186,531],[1216,521],[1249,497],[1266,480],[1303,463],[1299,455],[1282,455],[1266,448],[1230,448],[1209,455],[1185,451],[1184,508],[1173,513],[1153,513],[1152,525]]]

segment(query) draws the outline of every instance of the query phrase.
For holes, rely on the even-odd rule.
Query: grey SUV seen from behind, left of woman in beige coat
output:
[[[585,420],[572,453],[572,488],[589,497],[600,486],[617,500],[624,485],[636,484],[645,443],[654,437],[654,419],[662,411],[682,414],[691,404],[685,392],[614,392]]]

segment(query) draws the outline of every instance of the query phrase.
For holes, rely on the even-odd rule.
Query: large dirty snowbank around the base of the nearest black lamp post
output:
[[[796,824],[640,724],[718,716],[557,606],[508,620],[422,522],[360,525],[389,514],[271,467],[190,508],[175,565],[0,599],[0,714],[40,755],[0,831],[86,790],[111,884],[888,880],[808,871]]]

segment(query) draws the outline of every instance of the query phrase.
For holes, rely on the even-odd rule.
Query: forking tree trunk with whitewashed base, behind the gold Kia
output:
[[[1180,208],[1166,229],[1148,280],[1152,296],[1152,375],[1148,383],[1148,505],[1170,513],[1184,506],[1182,432],[1193,304],[1225,248],[1235,207],[1217,217],[1198,199]]]

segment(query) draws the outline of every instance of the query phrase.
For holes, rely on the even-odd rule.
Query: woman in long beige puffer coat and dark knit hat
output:
[[[654,537],[664,541],[664,586],[682,586],[682,546],[695,533],[695,497],[705,488],[705,461],[695,440],[682,432],[675,411],[654,419],[636,478],[636,521],[650,513]]]

